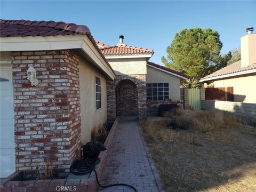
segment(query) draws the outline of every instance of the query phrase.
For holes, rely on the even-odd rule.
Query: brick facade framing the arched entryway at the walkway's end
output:
[[[147,108],[146,108],[146,74],[141,75],[119,75],[114,81],[107,80],[107,110],[108,110],[108,119],[113,121],[118,114],[116,108],[116,90],[120,83],[130,80],[132,81],[137,88],[138,97],[138,117],[140,119],[146,118]],[[117,88],[117,89],[116,89]],[[134,92],[136,94],[136,92]],[[118,104],[118,103],[117,103]],[[127,108],[128,109],[128,108]],[[122,108],[121,108],[122,110]],[[126,111],[129,113],[128,111]],[[119,114],[118,114],[119,115]],[[121,114],[123,115],[123,114]]]

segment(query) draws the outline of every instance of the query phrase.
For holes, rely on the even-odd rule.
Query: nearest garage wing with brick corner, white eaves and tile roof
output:
[[[116,75],[86,26],[1,20],[0,27],[1,178],[30,173],[49,157],[68,173],[91,129],[107,121],[106,82]]]

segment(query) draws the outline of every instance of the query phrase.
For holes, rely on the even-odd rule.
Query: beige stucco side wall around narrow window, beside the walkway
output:
[[[107,121],[107,86],[106,76],[88,61],[79,58],[79,87],[81,104],[81,139],[82,144],[91,140],[94,126]],[[96,110],[95,76],[101,79],[101,108]]]

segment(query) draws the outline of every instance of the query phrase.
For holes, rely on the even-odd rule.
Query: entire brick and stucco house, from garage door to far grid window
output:
[[[46,158],[67,174],[94,126],[154,114],[180,100],[188,78],[149,62],[153,50],[127,46],[122,36],[108,46],[74,23],[0,23],[1,178],[33,173]]]

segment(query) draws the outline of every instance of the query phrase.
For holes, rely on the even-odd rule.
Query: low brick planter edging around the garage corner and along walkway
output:
[[[107,149],[110,148],[113,141],[116,129],[118,125],[118,119],[115,120],[113,126],[110,129],[108,137],[104,143]],[[105,165],[108,150],[101,151],[99,158],[100,163],[95,166],[98,177],[100,177],[103,167]],[[61,190],[61,186],[65,186],[65,191],[81,191],[81,192],[94,192],[97,190],[98,183],[96,181],[95,174],[91,174],[90,178],[75,178],[75,179],[46,179],[46,180],[23,180],[22,172],[15,172],[8,178],[1,179],[0,191],[17,192],[17,191],[64,191]]]

